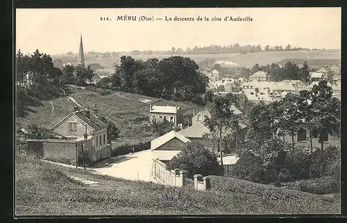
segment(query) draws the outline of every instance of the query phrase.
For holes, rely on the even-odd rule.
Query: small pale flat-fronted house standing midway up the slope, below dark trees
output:
[[[180,106],[149,106],[149,122],[160,122],[160,119],[170,122],[173,126],[182,126],[183,110]]]

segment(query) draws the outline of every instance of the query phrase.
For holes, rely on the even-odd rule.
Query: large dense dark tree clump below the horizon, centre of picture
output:
[[[198,72],[198,65],[190,58],[171,56],[158,60],[135,60],[122,56],[115,73],[99,81],[100,88],[179,101],[203,100],[208,77]]]

